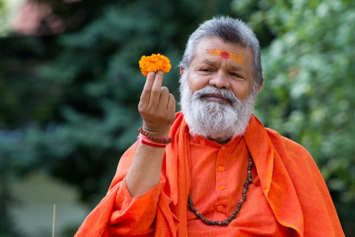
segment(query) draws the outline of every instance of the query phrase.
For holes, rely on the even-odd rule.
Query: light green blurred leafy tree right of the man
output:
[[[355,235],[355,2],[252,0],[237,14],[276,38],[262,52],[257,115],[311,153],[346,236]]]

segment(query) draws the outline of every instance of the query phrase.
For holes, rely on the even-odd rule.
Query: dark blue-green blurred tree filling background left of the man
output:
[[[169,57],[164,85],[178,97],[175,66],[189,34],[235,14],[230,0],[28,2],[44,9],[34,29],[21,31],[33,35],[0,38],[0,175],[44,169],[94,206],[141,125],[141,56]]]

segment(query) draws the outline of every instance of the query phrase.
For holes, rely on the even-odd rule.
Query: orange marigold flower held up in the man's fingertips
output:
[[[148,76],[150,71],[162,70],[163,72],[169,72],[171,68],[170,60],[164,55],[152,54],[151,56],[143,55],[139,60],[139,68],[144,76]]]

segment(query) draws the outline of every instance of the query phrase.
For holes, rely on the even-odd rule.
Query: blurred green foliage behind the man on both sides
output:
[[[260,39],[264,86],[255,114],[310,151],[346,236],[355,235],[355,3],[346,0],[37,0],[66,23],[53,34],[0,38],[0,216],[7,180],[42,169],[95,206],[137,136],[142,55],[162,53],[178,98],[187,37],[217,15],[240,17]],[[0,6],[1,10],[1,6]],[[0,236],[15,236],[1,218]]]

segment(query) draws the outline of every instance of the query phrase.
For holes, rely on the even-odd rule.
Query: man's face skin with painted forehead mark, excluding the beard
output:
[[[219,38],[201,39],[196,45],[187,82],[192,92],[208,85],[225,88],[241,101],[246,99],[253,87],[252,55],[249,49],[232,43],[224,43]],[[226,103],[216,95],[206,100]]]

